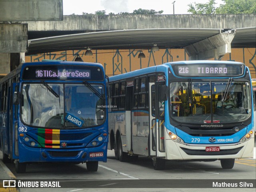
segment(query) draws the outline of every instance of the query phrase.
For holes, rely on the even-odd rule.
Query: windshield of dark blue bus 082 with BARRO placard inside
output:
[[[72,129],[101,125],[106,119],[103,84],[24,83],[21,117],[26,125]],[[101,94],[102,97],[96,95]]]

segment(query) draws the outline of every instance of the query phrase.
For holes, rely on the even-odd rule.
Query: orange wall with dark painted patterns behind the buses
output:
[[[84,62],[101,63],[108,76],[117,75],[160,65],[170,61],[188,60],[188,55],[184,49],[160,49],[151,52],[143,50],[146,58],[138,59],[140,50],[134,49],[111,49],[111,50],[92,50],[92,56],[84,55],[86,49],[59,51],[26,56],[26,62],[42,61],[42,59],[62,59],[74,61],[79,54]],[[213,60],[213,59],[211,59]],[[222,61],[238,61],[245,63],[249,67],[252,78],[256,78],[256,48],[234,48],[231,53],[224,55]]]

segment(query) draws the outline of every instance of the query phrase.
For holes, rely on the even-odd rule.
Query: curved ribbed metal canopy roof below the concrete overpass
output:
[[[72,49],[184,48],[221,32],[220,29],[165,28],[89,32],[29,40],[26,55]],[[232,48],[256,47],[256,27],[236,29]]]

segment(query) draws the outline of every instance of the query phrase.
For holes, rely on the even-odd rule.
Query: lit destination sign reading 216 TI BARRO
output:
[[[176,64],[174,65],[174,72],[178,76],[194,76],[194,77],[226,77],[242,75],[243,65],[229,65],[229,64]]]

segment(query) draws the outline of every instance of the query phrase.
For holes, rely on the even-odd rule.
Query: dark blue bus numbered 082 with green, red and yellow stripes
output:
[[[32,162],[107,160],[106,75],[99,63],[20,64],[0,80],[0,149],[16,172]]]

